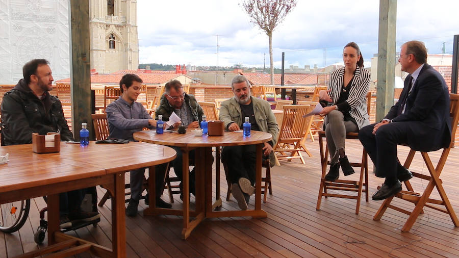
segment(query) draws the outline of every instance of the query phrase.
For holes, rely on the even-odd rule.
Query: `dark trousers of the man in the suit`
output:
[[[370,124],[359,131],[359,139],[376,167],[377,177],[386,177],[387,182],[395,183],[397,171],[403,166],[397,159],[397,144],[406,144],[412,126],[409,122],[395,122],[382,125],[373,135]]]

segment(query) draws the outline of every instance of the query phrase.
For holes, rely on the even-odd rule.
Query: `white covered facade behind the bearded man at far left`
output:
[[[36,58],[69,78],[68,0],[0,0],[0,84],[16,84]]]

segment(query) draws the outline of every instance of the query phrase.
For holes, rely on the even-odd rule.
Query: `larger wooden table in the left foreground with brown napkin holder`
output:
[[[154,169],[176,156],[174,149],[156,144],[95,144],[88,146],[61,142],[57,153],[37,154],[32,144],[0,147],[9,153],[9,162],[0,164],[0,203],[48,196],[48,245],[59,243],[64,251],[91,251],[99,257],[126,257],[124,215],[124,173],[142,167]],[[112,193],[112,250],[60,232],[59,193],[104,185]],[[72,247],[72,245],[77,246]],[[79,245],[78,245],[79,244]],[[56,246],[37,250],[58,250]],[[63,251],[63,252],[64,252]],[[32,257],[31,255],[25,257]],[[35,257],[33,256],[33,257]]]

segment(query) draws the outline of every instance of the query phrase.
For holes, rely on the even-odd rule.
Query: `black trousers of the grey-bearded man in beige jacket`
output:
[[[228,168],[230,183],[236,184],[239,178],[245,177],[250,184],[255,185],[255,173],[257,168],[256,145],[225,146],[221,150],[221,161]],[[263,157],[266,159],[267,157]]]

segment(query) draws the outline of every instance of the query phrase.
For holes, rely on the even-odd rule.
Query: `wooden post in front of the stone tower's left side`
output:
[[[94,131],[91,120],[89,1],[70,0],[68,9],[72,130],[75,138],[79,139],[82,122],[87,123],[90,132]]]

